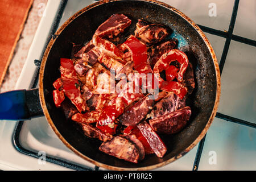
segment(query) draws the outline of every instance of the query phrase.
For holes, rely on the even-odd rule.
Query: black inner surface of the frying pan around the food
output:
[[[67,120],[63,111],[55,107],[52,100],[52,83],[60,77],[60,57],[71,56],[72,43],[80,44],[92,39],[97,27],[112,14],[125,14],[132,20],[131,27],[123,35],[133,34],[138,19],[151,23],[164,24],[172,30],[172,38],[179,41],[179,49],[184,51],[193,64],[196,88],[188,98],[192,109],[192,117],[185,129],[174,135],[160,135],[168,148],[166,155],[160,159],[156,155],[133,164],[106,155],[98,150],[101,142],[82,134],[75,122]],[[122,39],[121,39],[122,41]],[[49,51],[43,75],[44,98],[48,113],[56,129],[81,154],[109,166],[139,168],[152,166],[171,159],[189,147],[203,131],[214,107],[216,98],[216,72],[209,49],[199,33],[185,19],[174,11],[156,3],[145,1],[115,1],[103,3],[77,16],[64,28]],[[82,160],[82,159],[81,159]]]

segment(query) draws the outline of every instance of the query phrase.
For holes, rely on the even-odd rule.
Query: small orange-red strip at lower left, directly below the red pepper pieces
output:
[[[96,123],[100,118],[100,112],[98,111],[90,111],[88,113],[76,113],[72,115],[72,120],[79,123]]]

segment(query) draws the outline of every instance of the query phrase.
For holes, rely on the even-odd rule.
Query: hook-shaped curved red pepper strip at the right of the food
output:
[[[167,70],[172,61],[178,61],[180,65],[180,70],[177,73],[176,78],[179,82],[182,82],[183,75],[188,67],[188,57],[184,52],[179,51],[178,49],[172,49],[171,51],[164,53],[155,64],[154,73],[160,73]]]

